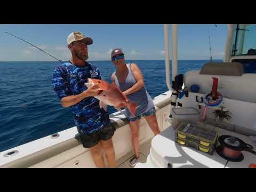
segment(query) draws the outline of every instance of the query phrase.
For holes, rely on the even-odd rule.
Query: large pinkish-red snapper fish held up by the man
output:
[[[127,107],[130,113],[135,116],[137,104],[129,101],[118,86],[109,84],[108,82],[100,79],[92,78],[88,78],[87,83],[85,83],[88,88],[94,84],[98,84],[99,86],[97,90],[100,91],[100,94],[94,96],[94,98],[100,100],[100,108],[107,111],[107,106],[113,106],[117,110],[121,111],[120,106]]]

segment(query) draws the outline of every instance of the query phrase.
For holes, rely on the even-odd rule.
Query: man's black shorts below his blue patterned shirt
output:
[[[100,140],[108,140],[113,137],[115,132],[115,127],[108,125],[103,127],[99,131],[95,131],[89,134],[80,134],[81,142],[83,143],[84,148],[90,148],[98,144]]]

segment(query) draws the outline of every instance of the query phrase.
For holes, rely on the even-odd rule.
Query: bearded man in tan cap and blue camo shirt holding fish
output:
[[[98,85],[87,88],[87,78],[101,79],[100,71],[86,62],[89,58],[87,45],[93,43],[90,37],[74,31],[68,36],[68,48],[72,58],[55,68],[52,85],[63,107],[70,107],[77,130],[85,148],[90,148],[97,167],[105,167],[102,149],[105,150],[110,167],[116,166],[115,151],[111,137],[115,129],[110,126],[108,113],[99,107]]]

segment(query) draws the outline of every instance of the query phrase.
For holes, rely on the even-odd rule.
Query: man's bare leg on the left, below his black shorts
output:
[[[103,147],[102,147],[102,144],[100,141],[98,142],[97,145],[90,148],[93,161],[94,161],[95,165],[99,168],[105,167],[104,159],[102,156],[102,149],[103,149]]]

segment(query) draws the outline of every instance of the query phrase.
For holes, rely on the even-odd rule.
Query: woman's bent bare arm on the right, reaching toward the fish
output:
[[[129,95],[131,93],[139,91],[142,87],[145,86],[140,68],[135,63],[132,63],[130,67],[131,67],[132,74],[135,77],[137,83],[135,83],[130,89],[127,89],[126,91],[124,91],[123,93],[125,95]]]

